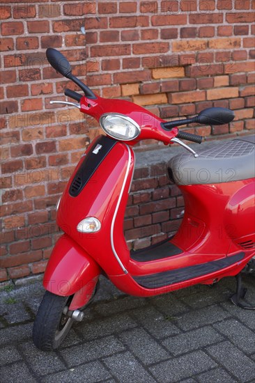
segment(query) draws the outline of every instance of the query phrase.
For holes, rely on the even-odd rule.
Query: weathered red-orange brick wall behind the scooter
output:
[[[49,104],[75,86],[49,67],[45,49],[61,49],[98,94],[125,97],[165,119],[235,109],[230,125],[186,128],[206,140],[249,134],[254,9],[250,0],[1,2],[1,281],[45,268],[59,237],[56,201],[100,132],[77,109]],[[125,229],[136,249],[178,225],[182,198],[157,172],[135,175]]]

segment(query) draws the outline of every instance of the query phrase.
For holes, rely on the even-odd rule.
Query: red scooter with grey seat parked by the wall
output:
[[[201,143],[201,136],[180,132],[187,123],[231,122],[229,109],[210,108],[198,116],[165,122],[125,100],[107,100],[72,75],[70,63],[56,49],[47,49],[49,63],[77,84],[65,95],[99,121],[106,135],[95,138],[75,169],[56,206],[64,234],[49,258],[43,286],[47,290],[33,325],[33,342],[52,350],[68,334],[72,322],[84,318],[103,274],[123,292],[150,297],[197,283],[212,285],[224,276],[238,276],[232,301],[245,295],[241,271],[255,269],[254,139],[240,137],[199,153],[180,139]],[[123,219],[134,171],[132,146],[144,139],[178,143],[190,153],[169,162],[169,177],[185,200],[178,233],[140,251],[129,251]]]

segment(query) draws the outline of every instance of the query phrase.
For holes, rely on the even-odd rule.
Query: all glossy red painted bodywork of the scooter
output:
[[[183,253],[160,260],[137,262],[130,258],[123,235],[123,219],[134,171],[134,153],[130,146],[141,139],[156,139],[167,144],[178,134],[178,130],[164,130],[160,118],[123,100],[82,97],[81,110],[97,120],[105,113],[125,114],[139,124],[141,134],[129,141],[129,146],[125,142],[117,142],[82,192],[75,197],[69,194],[75,173],[72,175],[57,213],[57,223],[67,235],[57,242],[49,260],[45,288],[59,295],[75,294],[72,302],[72,309],[75,309],[87,302],[84,294],[91,295],[101,269],[118,288],[137,296],[162,294],[238,274],[255,253],[254,249],[245,249],[241,244],[254,236],[254,179],[181,186],[185,216],[171,242]],[[82,161],[83,158],[77,169]],[[95,217],[100,221],[98,232],[88,234],[77,231],[77,225],[86,217]],[[171,286],[148,289],[139,286],[132,278],[208,263],[241,251],[245,256],[238,263]]]

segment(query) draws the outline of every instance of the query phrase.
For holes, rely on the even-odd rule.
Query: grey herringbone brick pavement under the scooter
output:
[[[255,276],[244,278],[255,303]],[[1,382],[255,382],[255,314],[233,306],[235,279],[153,298],[102,279],[86,320],[56,352],[33,346],[40,281],[0,295]]]

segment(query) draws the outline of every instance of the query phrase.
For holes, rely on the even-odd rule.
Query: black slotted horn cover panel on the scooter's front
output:
[[[101,162],[107,157],[111,149],[117,143],[116,140],[110,139],[107,136],[99,136],[97,141],[95,141],[91,150],[86,153],[82,164],[79,166],[79,169],[75,173],[75,177],[72,180],[72,183],[69,188],[69,194],[72,197],[79,196],[80,192],[91,178],[93,173],[98,169]],[[98,154],[93,153],[95,147],[101,145],[102,148],[98,150]]]

